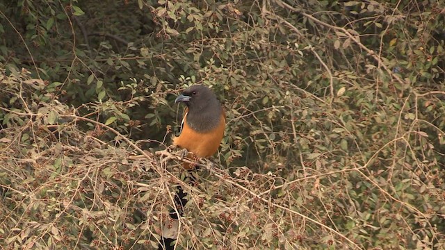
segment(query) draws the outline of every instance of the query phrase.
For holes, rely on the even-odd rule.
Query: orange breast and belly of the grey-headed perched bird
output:
[[[206,133],[198,133],[187,124],[187,116],[184,116],[184,127],[178,137],[173,138],[173,144],[187,149],[200,158],[208,158],[212,156],[223,140],[225,130],[225,114],[221,114],[220,123],[213,130]]]

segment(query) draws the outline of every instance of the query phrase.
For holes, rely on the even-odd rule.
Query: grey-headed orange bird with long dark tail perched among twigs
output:
[[[209,158],[213,156],[223,140],[226,124],[225,110],[218,101],[216,94],[207,86],[192,85],[179,94],[175,103],[184,103],[186,108],[181,121],[181,133],[173,138],[172,144],[185,150],[184,155],[188,157]],[[187,163],[184,163],[183,167],[188,171],[193,169],[193,166]],[[194,180],[194,177],[191,176],[190,181]],[[188,201],[186,192],[181,186],[177,189],[175,196],[177,210],[170,210],[172,219],[179,219],[176,211],[179,211],[179,216],[181,216],[182,208]],[[175,228],[173,229],[175,230]],[[173,249],[170,244],[176,238],[177,233],[163,231],[159,249]]]

